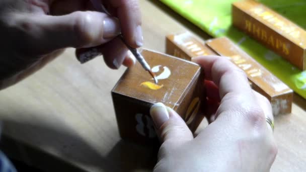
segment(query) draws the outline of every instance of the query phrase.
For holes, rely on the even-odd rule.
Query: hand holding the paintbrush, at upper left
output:
[[[93,3],[103,3],[113,17],[95,12]],[[111,68],[130,66],[135,59],[116,38],[120,32],[130,46],[142,45],[136,0],[3,0],[0,89],[37,71],[67,47],[88,48],[77,51],[79,57],[103,54]]]

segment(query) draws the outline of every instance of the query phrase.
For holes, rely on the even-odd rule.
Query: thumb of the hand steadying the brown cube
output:
[[[171,108],[157,103],[150,108],[150,115],[162,141],[170,140],[178,146],[193,139],[184,120]]]

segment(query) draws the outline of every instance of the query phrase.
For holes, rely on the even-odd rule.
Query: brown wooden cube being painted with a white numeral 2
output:
[[[204,116],[200,107],[205,101],[203,70],[195,63],[166,54],[143,50],[142,55],[158,84],[139,63],[128,68],[112,90],[120,136],[137,143],[152,143],[157,135],[149,116],[158,102],[174,109],[195,131]]]

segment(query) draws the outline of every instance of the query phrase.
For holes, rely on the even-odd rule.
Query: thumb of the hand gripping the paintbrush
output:
[[[74,12],[64,16],[19,16],[29,47],[48,53],[57,49],[93,47],[120,33],[118,19],[100,12]],[[39,47],[39,48],[37,48]]]

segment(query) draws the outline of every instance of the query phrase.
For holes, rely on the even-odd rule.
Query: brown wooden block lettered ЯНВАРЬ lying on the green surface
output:
[[[301,70],[306,68],[306,31],[252,0],[232,6],[233,25]]]

